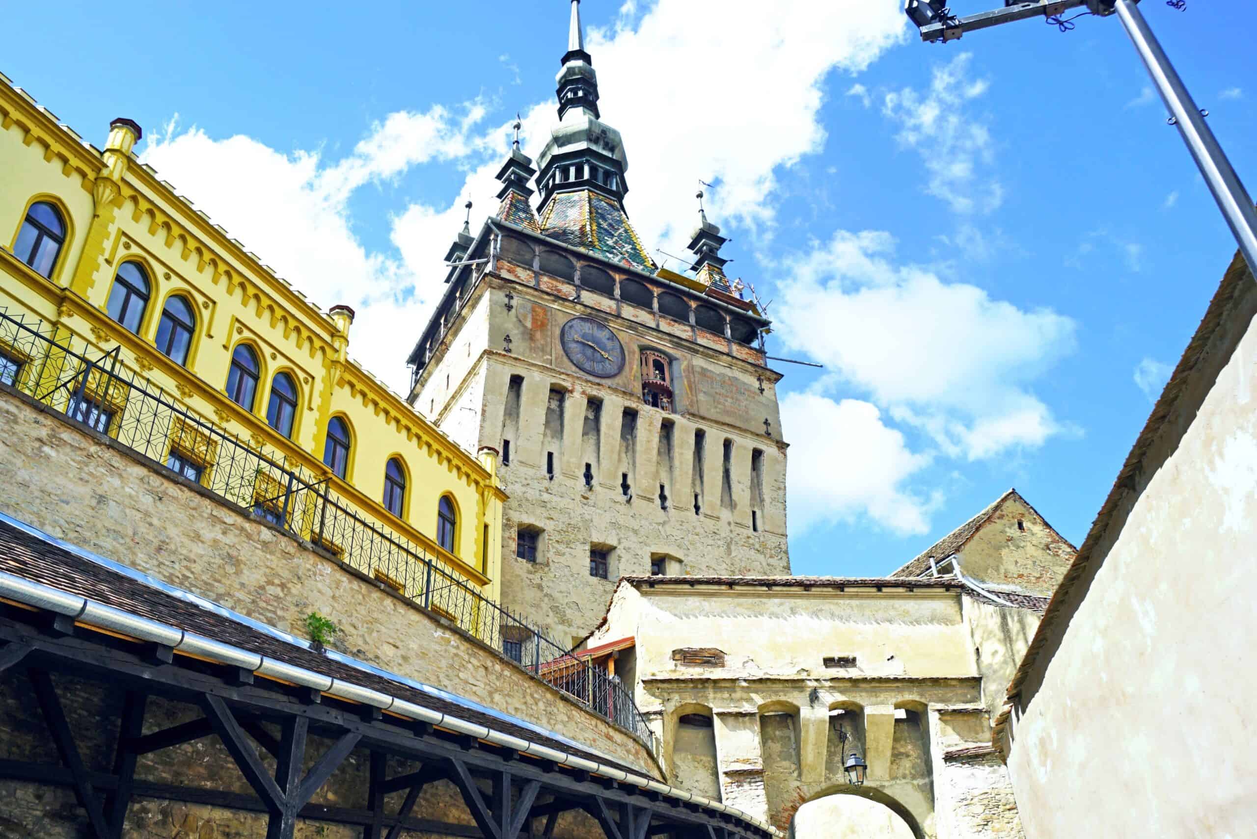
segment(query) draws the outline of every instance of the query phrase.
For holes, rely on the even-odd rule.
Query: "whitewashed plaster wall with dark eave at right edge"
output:
[[[1022,686],[1008,766],[1032,839],[1257,824],[1257,289],[1238,283]]]

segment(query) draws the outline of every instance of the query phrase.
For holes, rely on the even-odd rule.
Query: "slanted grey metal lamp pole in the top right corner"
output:
[[[1257,212],[1253,211],[1248,191],[1231,167],[1231,161],[1227,160],[1213,132],[1204,123],[1200,109],[1192,100],[1183,79],[1174,72],[1165,50],[1156,43],[1139,6],[1133,0],[1117,0],[1117,18],[1121,19],[1121,25],[1130,35],[1139,57],[1144,59],[1148,74],[1153,77],[1165,107],[1174,117],[1174,124],[1178,126],[1183,142],[1192,152],[1200,175],[1209,185],[1209,192],[1213,193],[1231,232],[1239,242],[1239,252],[1244,255],[1248,269],[1257,274]]]

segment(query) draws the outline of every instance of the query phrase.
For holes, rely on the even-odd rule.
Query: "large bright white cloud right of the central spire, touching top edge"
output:
[[[640,19],[636,9],[621,11],[617,28],[591,31],[586,48],[598,73],[602,118],[623,134],[634,225],[647,249],[671,252],[684,247],[698,220],[698,178],[716,183],[706,200],[716,224],[769,234],[777,170],[825,142],[818,114],[826,78],[862,70],[906,31],[895,0],[735,8],[725,0],[659,0]],[[552,122],[529,134],[529,154],[535,157]]]

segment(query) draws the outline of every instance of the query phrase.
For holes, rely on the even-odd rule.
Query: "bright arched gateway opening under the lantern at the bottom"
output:
[[[789,823],[789,839],[925,839],[916,818],[870,786],[841,785],[808,799]]]

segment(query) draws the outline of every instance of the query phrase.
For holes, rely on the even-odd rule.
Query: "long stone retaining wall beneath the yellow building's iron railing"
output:
[[[0,392],[0,426],[4,512],[295,636],[318,612],[342,628],[333,646],[351,656],[659,775],[625,731],[442,618],[165,467],[9,392]]]

